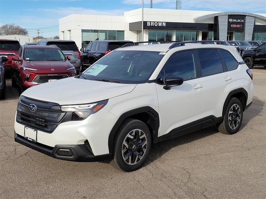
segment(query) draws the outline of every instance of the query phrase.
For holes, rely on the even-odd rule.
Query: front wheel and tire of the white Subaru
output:
[[[121,171],[135,171],[146,161],[151,144],[148,126],[140,120],[126,119],[115,136],[113,159],[110,164]]]

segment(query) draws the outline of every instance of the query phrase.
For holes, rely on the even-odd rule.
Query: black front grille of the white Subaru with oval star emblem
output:
[[[24,100],[24,101],[23,101]],[[30,104],[35,104],[37,110],[31,112],[28,108]],[[41,130],[47,133],[53,132],[53,130],[62,122],[64,116],[67,113],[61,112],[61,110],[56,109],[57,105],[55,103],[51,104],[51,107],[47,106],[47,102],[41,102],[36,100],[28,99],[21,96],[17,106],[17,117],[16,121],[25,126]],[[44,108],[44,106],[46,106]]]

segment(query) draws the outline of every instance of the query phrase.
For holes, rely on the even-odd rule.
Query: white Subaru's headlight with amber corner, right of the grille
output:
[[[91,104],[62,105],[61,110],[64,112],[73,112],[72,120],[84,120],[90,114],[94,114],[104,108],[108,99]]]

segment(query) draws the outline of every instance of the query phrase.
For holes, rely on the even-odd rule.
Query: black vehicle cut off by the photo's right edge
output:
[[[266,68],[266,43],[254,49],[244,50],[242,58],[250,69],[252,69],[254,65],[261,65]]]

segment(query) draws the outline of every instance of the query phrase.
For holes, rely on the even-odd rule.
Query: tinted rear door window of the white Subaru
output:
[[[200,59],[202,76],[223,72],[221,57],[216,49],[197,50]]]

